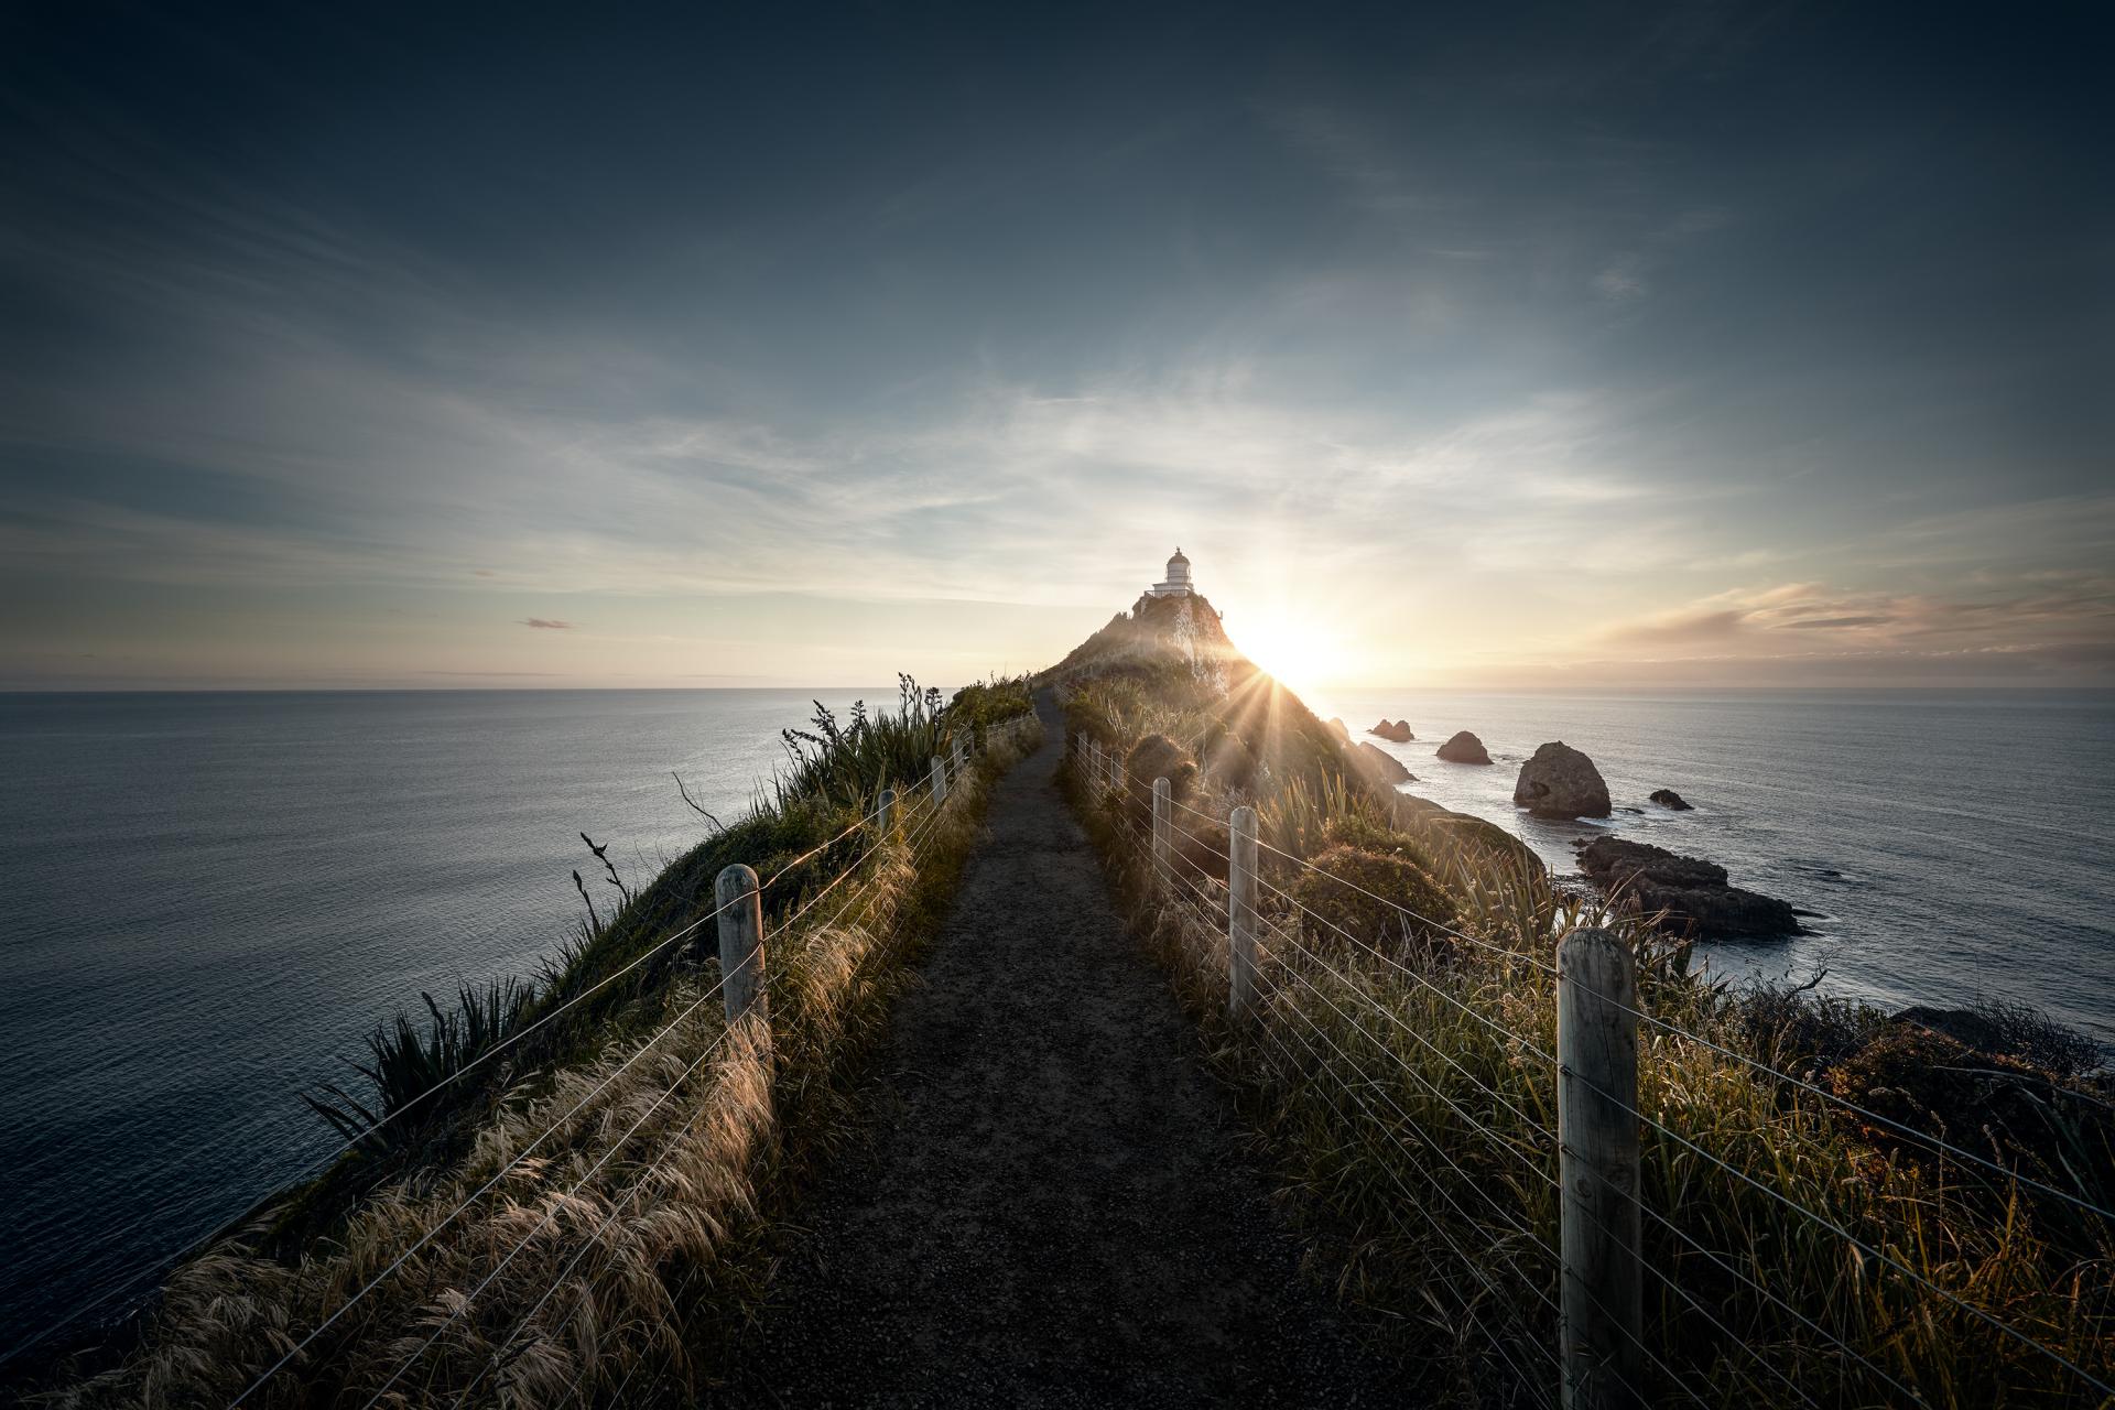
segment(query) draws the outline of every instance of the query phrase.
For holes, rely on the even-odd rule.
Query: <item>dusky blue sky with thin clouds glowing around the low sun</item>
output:
[[[964,681],[1176,545],[1305,685],[2111,685],[2104,55],[17,2],[0,689]]]

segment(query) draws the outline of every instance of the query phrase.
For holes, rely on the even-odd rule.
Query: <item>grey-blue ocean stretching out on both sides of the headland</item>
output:
[[[336,1139],[298,1093],[345,1080],[421,989],[527,975],[626,879],[698,841],[679,772],[738,814],[810,695],[374,691],[0,695],[0,1351],[150,1270]],[[2115,1042],[2115,695],[1442,693],[1309,700],[1415,793],[1571,869],[1614,829],[1709,856],[1817,911],[1810,936],[1717,943],[1726,975],[1808,977],[1882,1004],[1992,994]],[[1432,748],[1483,736],[1493,767]],[[1618,812],[1510,803],[1544,740],[1586,750]],[[1673,786],[1696,812],[1645,793]]]

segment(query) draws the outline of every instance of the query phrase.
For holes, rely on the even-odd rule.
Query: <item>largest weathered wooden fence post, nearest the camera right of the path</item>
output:
[[[1607,930],[1567,934],[1557,947],[1565,1410],[1643,1404],[1635,1010],[1631,947]]]

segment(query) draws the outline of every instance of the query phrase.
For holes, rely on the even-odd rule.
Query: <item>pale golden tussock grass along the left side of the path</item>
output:
[[[398,1406],[692,1397],[759,1298],[772,1218],[854,1125],[861,1057],[907,983],[907,962],[937,928],[990,780],[1041,738],[1034,715],[988,719],[983,729],[988,750],[945,805],[899,810],[888,837],[861,829],[854,841],[871,852],[846,886],[816,901],[825,882],[816,875],[772,896],[768,1055],[753,1025],[725,1029],[706,928],[700,945],[675,947],[654,966],[651,985],[626,983],[622,998],[599,1002],[601,1032],[571,1038],[592,1042],[586,1057],[514,1068],[444,1158],[393,1169],[328,1237],[292,1251],[290,1209],[262,1211],[171,1275],[142,1349],[123,1366],[40,1399],[220,1406],[288,1353],[243,1404],[362,1406],[376,1393]],[[922,750],[928,738],[876,748]],[[928,759],[918,759],[920,772]],[[871,763],[861,759],[857,776],[873,778]],[[823,774],[831,786],[854,776],[806,778]],[[776,808],[725,829],[630,905],[700,894],[689,873],[717,871],[728,835],[766,839],[776,852],[812,837],[802,831],[812,818],[835,816],[827,791],[821,803],[780,791]],[[808,901],[816,905],[797,924],[783,924]],[[607,945],[594,964],[626,953],[611,939],[615,924],[592,936]],[[584,964],[575,956],[558,975]],[[560,991],[554,983],[544,1000]],[[313,1207],[313,1192],[288,1205]]]

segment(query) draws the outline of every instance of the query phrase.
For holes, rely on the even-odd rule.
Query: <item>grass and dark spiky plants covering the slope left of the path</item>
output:
[[[969,731],[983,750],[935,808],[933,757]],[[893,712],[819,706],[751,816],[649,884],[596,850],[613,911],[590,901],[535,981],[376,1032],[372,1091],[315,1099],[353,1148],[176,1268],[140,1347],[51,1404],[228,1404],[281,1357],[243,1404],[694,1393],[759,1298],[772,1218],[852,1129],[988,782],[1036,740],[1022,681],[943,708],[903,679]],[[764,886],[770,1055],[721,1017],[713,884],[734,862]]]

